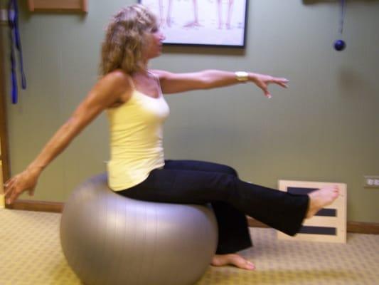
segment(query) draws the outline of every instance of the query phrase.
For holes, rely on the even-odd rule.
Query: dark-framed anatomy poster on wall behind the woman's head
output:
[[[245,47],[248,0],[139,0],[156,14],[164,44]]]

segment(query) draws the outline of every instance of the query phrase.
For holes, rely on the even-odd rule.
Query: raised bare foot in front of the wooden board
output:
[[[306,213],[306,219],[309,219],[319,212],[320,209],[328,206],[333,203],[335,199],[337,199],[339,195],[338,186],[329,186],[321,188],[320,190],[316,190],[309,193],[309,209]]]

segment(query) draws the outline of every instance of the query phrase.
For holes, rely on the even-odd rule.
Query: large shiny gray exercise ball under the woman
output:
[[[60,222],[63,253],[86,285],[194,284],[217,239],[207,207],[122,197],[105,174],[74,190]]]

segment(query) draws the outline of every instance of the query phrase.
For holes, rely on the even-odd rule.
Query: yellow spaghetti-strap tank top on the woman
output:
[[[120,191],[143,182],[151,170],[164,166],[163,123],[169,105],[160,93],[152,98],[134,88],[131,98],[107,110],[110,123],[108,183]]]

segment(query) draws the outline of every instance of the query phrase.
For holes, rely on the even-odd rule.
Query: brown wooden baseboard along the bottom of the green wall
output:
[[[14,204],[7,205],[6,208],[60,213],[63,211],[63,206],[64,203],[61,202],[17,200]],[[247,222],[249,227],[268,227],[266,224],[263,224],[252,217],[247,217]],[[347,231],[359,234],[379,234],[379,223],[348,222]]]

